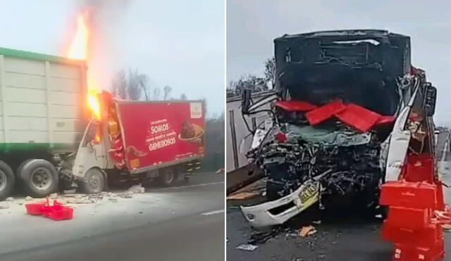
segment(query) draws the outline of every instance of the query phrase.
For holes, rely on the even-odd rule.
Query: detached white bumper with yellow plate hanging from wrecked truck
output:
[[[319,182],[308,182],[288,196],[250,207],[241,206],[245,219],[253,227],[266,227],[283,224],[288,219],[306,210],[319,200]],[[274,209],[287,205],[275,212]],[[272,210],[272,211],[271,211]]]

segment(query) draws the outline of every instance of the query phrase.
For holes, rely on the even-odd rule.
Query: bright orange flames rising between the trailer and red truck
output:
[[[87,60],[88,56],[88,44],[89,44],[89,27],[88,27],[88,13],[83,12],[77,16],[77,28],[73,36],[73,40],[68,48],[68,58]],[[97,98],[97,93],[92,82],[88,79],[88,94],[87,104],[92,111],[92,114],[100,119],[100,103]]]

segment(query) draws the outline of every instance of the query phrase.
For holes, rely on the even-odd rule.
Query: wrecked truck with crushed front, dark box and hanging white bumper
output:
[[[242,98],[243,115],[272,104],[270,124],[251,130],[247,153],[268,177],[267,202],[242,206],[245,218],[264,227],[312,205],[376,211],[385,170],[402,165],[392,148],[396,126],[406,125],[397,123],[402,111],[416,106],[409,117],[421,117],[435,108],[435,87],[410,63],[409,37],[340,30],[284,35],[274,43],[274,93],[252,101],[244,91]],[[421,104],[412,104],[419,95]],[[421,132],[419,125],[409,129]]]

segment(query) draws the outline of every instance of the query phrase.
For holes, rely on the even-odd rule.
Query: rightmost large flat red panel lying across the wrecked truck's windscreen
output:
[[[348,104],[344,110],[335,113],[335,116],[360,132],[368,132],[381,118],[378,113],[353,103]]]

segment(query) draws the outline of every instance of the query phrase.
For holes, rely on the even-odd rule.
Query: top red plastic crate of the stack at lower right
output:
[[[425,182],[387,182],[382,185],[381,205],[405,208],[435,208],[437,186]]]

